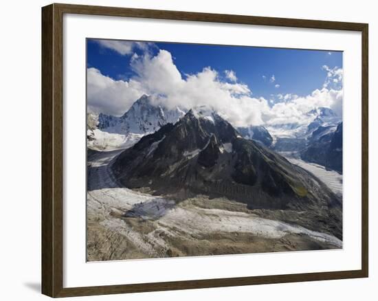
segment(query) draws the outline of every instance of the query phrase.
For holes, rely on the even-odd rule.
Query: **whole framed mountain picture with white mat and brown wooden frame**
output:
[[[45,295],[368,277],[368,24],[52,4],[42,82]]]

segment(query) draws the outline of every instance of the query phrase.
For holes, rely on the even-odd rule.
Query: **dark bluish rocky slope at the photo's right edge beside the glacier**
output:
[[[342,123],[336,129],[320,126],[313,132],[309,145],[302,150],[300,157],[342,173]]]

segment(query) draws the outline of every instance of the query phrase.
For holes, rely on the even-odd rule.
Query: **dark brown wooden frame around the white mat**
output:
[[[316,272],[155,282],[133,285],[63,287],[63,15],[89,14],[346,30],[362,33],[362,268]],[[42,293],[51,297],[87,296],[142,291],[199,289],[368,277],[368,24],[262,16],[239,16],[52,4],[42,8]]]

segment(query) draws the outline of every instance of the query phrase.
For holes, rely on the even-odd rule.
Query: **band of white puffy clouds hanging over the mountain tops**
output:
[[[122,115],[146,93],[154,96],[155,104],[168,109],[208,105],[234,126],[300,123],[308,118],[306,113],[316,107],[329,107],[340,115],[342,113],[342,89],[329,85],[316,89],[309,96],[277,94],[278,100],[274,101],[252,97],[249,87],[238,82],[236,76],[235,80],[229,78],[225,81],[211,67],[181,76],[172,55],[166,50],[161,49],[155,55],[134,54],[130,64],[135,76],[129,81],[114,80],[95,68],[87,70],[87,97],[91,111]],[[330,78],[339,80],[340,71],[325,67],[324,70],[327,78],[331,71]],[[274,76],[271,78],[276,80]]]

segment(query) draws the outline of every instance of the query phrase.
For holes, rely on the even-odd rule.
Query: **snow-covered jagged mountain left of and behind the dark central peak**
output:
[[[184,114],[179,108],[168,110],[155,105],[150,96],[144,95],[121,117],[88,113],[87,144],[95,150],[128,148],[164,124],[177,122]]]

